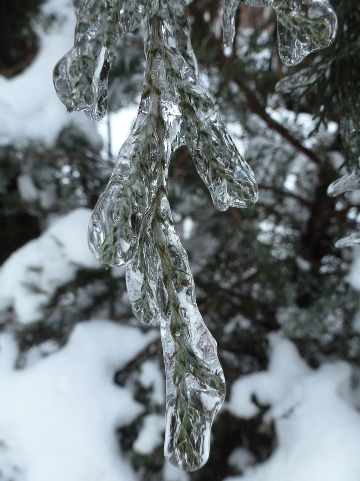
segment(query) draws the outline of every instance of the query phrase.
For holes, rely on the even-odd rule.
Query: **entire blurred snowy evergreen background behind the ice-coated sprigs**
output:
[[[210,459],[182,473],[163,459],[159,333],[86,240],[136,117],[142,35],[120,38],[96,124],[68,114],[52,84],[71,3],[2,0],[1,481],[358,481],[360,251],[334,244],[358,230],[360,196],[326,190],[360,157],[360,9],[331,4],[336,40],[296,67],[278,57],[273,9],[241,4],[225,57],[222,2],[187,7],[199,76],[259,201],[216,211],[187,148],[174,153],[175,227],[227,382]]]

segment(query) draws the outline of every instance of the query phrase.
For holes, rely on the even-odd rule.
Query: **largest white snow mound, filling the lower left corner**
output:
[[[79,323],[63,349],[15,370],[14,339],[2,334],[1,470],[16,466],[23,476],[16,479],[26,481],[135,480],[115,429],[143,407],[113,378],[156,336],[109,321]]]

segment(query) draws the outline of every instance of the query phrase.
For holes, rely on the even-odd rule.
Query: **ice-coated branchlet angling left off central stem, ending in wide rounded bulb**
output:
[[[137,116],[89,224],[88,245],[92,254],[103,264],[114,267],[124,266],[132,259],[141,221],[149,206],[151,194],[140,167],[144,151],[153,145],[151,135],[146,136],[146,115],[141,110]]]

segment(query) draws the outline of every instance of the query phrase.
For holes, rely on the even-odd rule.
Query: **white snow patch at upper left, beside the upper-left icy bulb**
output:
[[[0,145],[23,144],[29,139],[51,145],[59,131],[75,123],[92,140],[101,143],[96,124],[83,113],[69,115],[52,83],[55,63],[72,47],[76,23],[71,0],[51,0],[42,8],[59,20],[48,32],[39,31],[40,51],[22,73],[0,76]]]

